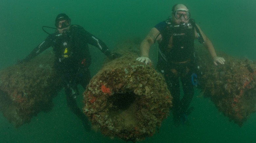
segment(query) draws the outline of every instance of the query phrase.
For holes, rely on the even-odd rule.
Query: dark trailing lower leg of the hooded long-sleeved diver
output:
[[[64,88],[65,93],[66,93],[66,99],[67,99],[67,104],[68,107],[70,108],[70,110],[75,113],[75,115],[82,120],[84,128],[86,131],[90,131],[91,127],[88,121],[88,118],[84,115],[84,113],[80,110],[80,108],[77,106],[76,104],[76,100],[75,98],[73,98],[73,96],[71,96],[71,88]]]

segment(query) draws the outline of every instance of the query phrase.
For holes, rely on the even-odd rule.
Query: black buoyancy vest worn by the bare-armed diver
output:
[[[165,62],[184,62],[194,58],[194,28],[201,40],[202,36],[195,22],[190,19],[185,27],[175,26],[171,18],[166,21],[166,27],[160,31],[162,41],[159,43],[159,58]]]

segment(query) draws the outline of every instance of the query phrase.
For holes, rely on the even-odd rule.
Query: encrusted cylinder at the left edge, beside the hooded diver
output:
[[[16,127],[28,123],[39,112],[52,109],[57,95],[53,53],[46,52],[28,63],[0,71],[0,111]]]

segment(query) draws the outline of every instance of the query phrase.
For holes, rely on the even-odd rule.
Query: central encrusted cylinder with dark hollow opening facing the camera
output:
[[[122,57],[106,62],[83,93],[83,111],[103,135],[133,142],[152,136],[172,105],[163,76],[136,60],[139,43],[118,44]]]

